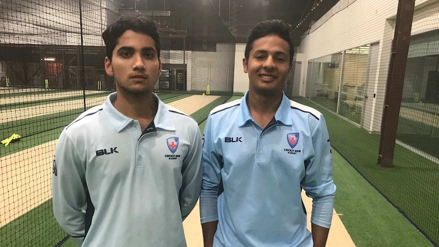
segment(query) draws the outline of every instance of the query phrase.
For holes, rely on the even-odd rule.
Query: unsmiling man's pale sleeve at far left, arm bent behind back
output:
[[[72,239],[82,244],[85,237],[86,182],[83,163],[65,131],[58,140],[52,164],[53,213]]]

